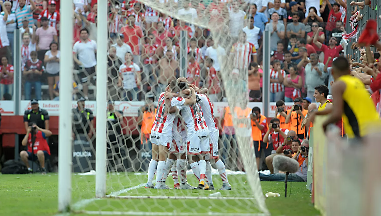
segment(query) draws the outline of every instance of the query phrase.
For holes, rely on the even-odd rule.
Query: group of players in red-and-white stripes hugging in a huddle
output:
[[[218,157],[219,130],[207,91],[181,77],[172,80],[160,94],[151,129],[152,160],[145,188],[170,189],[165,181],[171,171],[174,189],[214,190],[209,162],[213,158],[223,182],[220,190],[232,189],[225,165]],[[197,187],[187,182],[188,162],[199,181]]]

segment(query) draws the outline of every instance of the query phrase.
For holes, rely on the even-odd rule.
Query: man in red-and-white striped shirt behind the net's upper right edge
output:
[[[246,41],[246,33],[239,33],[239,42],[232,46],[231,53],[234,54],[234,70],[233,73],[242,69],[247,69],[250,65],[251,58],[257,62],[257,51],[253,43]]]

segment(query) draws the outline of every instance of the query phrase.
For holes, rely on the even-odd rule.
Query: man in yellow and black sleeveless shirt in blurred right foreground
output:
[[[332,97],[335,109],[323,123],[336,123],[343,117],[344,130],[348,138],[362,138],[371,133],[371,129],[381,127],[381,120],[370,94],[358,78],[351,76],[350,63],[340,56],[332,63],[332,75],[335,85],[332,86]]]

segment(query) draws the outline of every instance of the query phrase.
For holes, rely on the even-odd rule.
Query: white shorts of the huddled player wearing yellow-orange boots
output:
[[[197,131],[187,135],[187,152],[188,155],[197,155],[197,154],[209,154],[209,130],[208,128],[203,129],[202,131]]]

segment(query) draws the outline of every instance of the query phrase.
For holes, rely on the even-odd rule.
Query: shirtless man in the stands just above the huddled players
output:
[[[173,59],[171,50],[166,51],[165,56],[159,60],[159,76],[157,83],[157,94],[165,91],[165,87],[171,80],[176,79],[176,71],[178,70],[179,62]]]

